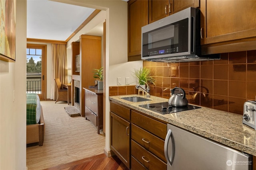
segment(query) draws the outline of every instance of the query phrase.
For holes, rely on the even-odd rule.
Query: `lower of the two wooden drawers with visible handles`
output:
[[[166,170],[166,163],[154,156],[152,153],[145,150],[143,147],[138,145],[135,141],[131,141],[131,152],[132,156],[138,160],[148,170]]]

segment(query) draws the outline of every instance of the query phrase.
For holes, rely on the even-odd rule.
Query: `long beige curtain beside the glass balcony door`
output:
[[[61,83],[68,82],[67,47],[66,44],[52,44],[52,89],[51,99],[57,100],[58,88],[55,78],[60,78]]]

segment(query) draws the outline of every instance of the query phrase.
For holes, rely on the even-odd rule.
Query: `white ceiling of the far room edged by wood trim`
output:
[[[94,10],[50,0],[27,0],[27,38],[66,41]]]

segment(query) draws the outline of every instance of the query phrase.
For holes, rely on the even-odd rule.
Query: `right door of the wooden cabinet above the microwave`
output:
[[[189,7],[199,8],[199,0],[173,0],[173,13]]]

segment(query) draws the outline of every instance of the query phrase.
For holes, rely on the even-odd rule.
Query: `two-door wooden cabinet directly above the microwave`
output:
[[[184,10],[199,7],[199,0],[149,0],[149,23]]]

